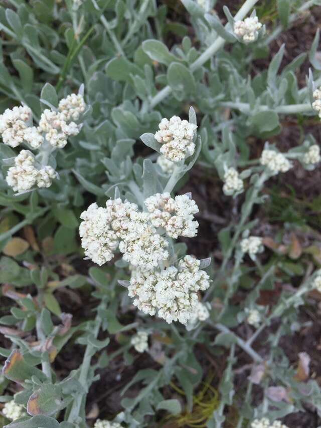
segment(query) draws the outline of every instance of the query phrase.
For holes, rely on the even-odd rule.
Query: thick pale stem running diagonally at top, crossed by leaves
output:
[[[242,20],[247,13],[253,8],[253,6],[258,2],[258,0],[246,0],[244,5],[241,7],[241,9],[238,11],[238,13],[235,15],[234,19]],[[225,26],[225,28],[229,28],[229,24]],[[194,63],[191,64],[190,70],[193,72],[197,70],[198,68],[202,67],[210,58],[213,57],[213,55],[221,49],[225,44],[225,40],[222,37],[218,37],[216,41],[208,47],[203,54],[196,60]],[[150,107],[154,108],[157,104],[162,102],[165,98],[167,98],[172,92],[172,88],[170,86],[166,86],[163,88],[160,92],[158,92],[157,95],[155,95],[150,100]]]

